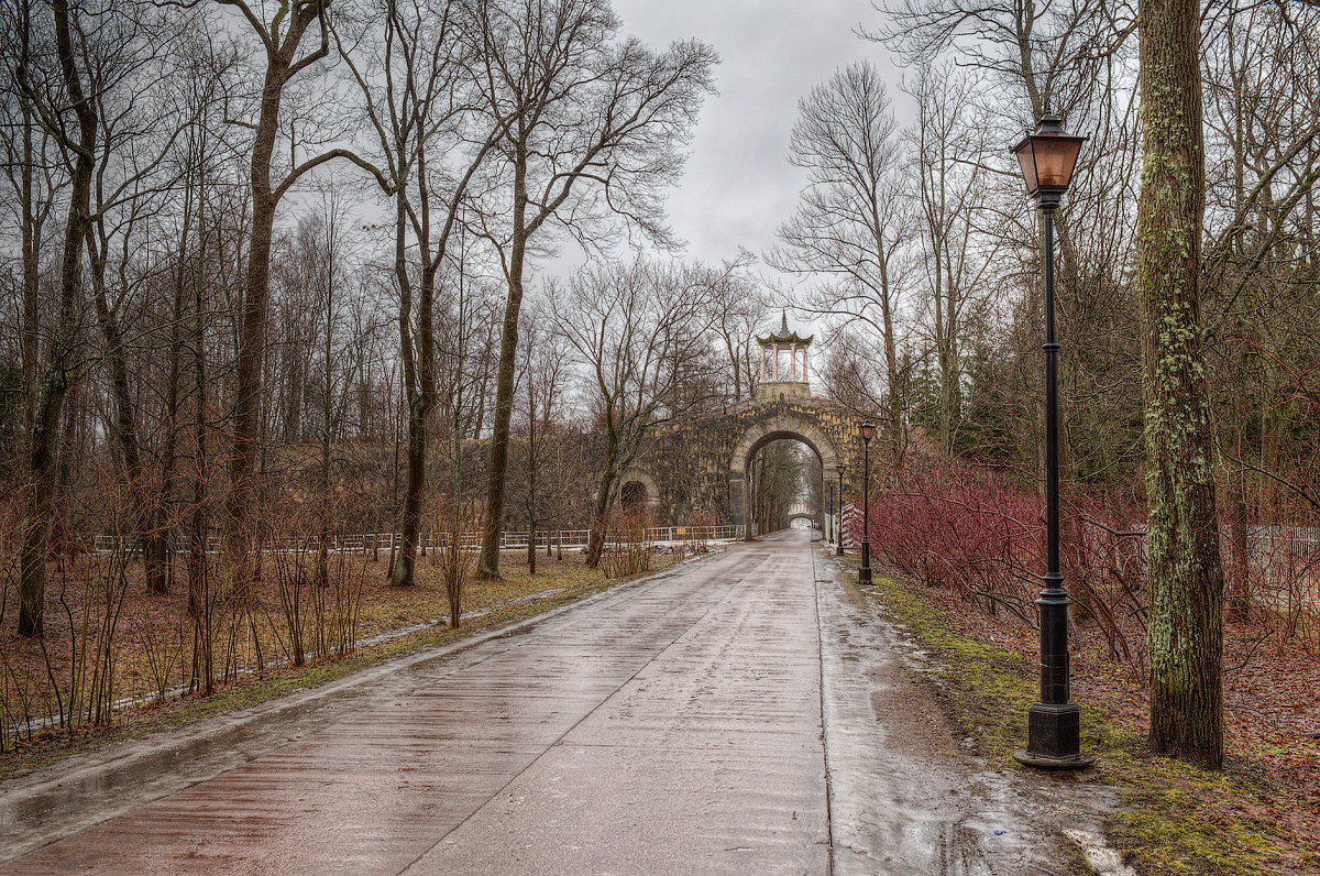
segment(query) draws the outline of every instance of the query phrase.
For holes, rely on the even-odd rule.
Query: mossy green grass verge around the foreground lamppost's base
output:
[[[977,641],[956,618],[923,599],[920,587],[875,576],[867,602],[906,628],[931,657],[945,708],[960,732],[975,740],[991,766],[1027,769],[1012,760],[1027,737],[1027,710],[1036,700],[1035,655]],[[1249,757],[1222,773],[1146,752],[1123,732],[1106,703],[1082,703],[1082,749],[1096,768],[1055,781],[1105,782],[1118,789],[1110,843],[1139,873],[1152,876],[1320,872],[1320,855],[1271,832],[1267,787]]]

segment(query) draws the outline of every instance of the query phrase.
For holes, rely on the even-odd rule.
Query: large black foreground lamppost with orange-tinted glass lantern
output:
[[[1045,107],[1040,127],[1014,147],[1027,196],[1045,231],[1045,527],[1047,562],[1040,606],[1040,702],[1027,713],[1027,750],[1016,758],[1044,769],[1080,769],[1094,758],[1081,753],[1081,710],[1068,702],[1068,592],[1059,572],[1059,344],[1055,341],[1055,210],[1072,182],[1086,137],[1064,132]]]

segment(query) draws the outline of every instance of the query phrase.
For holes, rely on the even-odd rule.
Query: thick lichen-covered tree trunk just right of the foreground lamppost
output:
[[[1224,569],[1200,325],[1205,168],[1196,0],[1142,0],[1137,211],[1151,614],[1151,749],[1224,762]]]

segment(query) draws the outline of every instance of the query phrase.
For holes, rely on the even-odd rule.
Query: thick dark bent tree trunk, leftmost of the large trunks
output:
[[[91,222],[92,151],[96,145],[96,111],[83,95],[74,59],[67,0],[51,0],[50,11],[55,22],[55,48],[65,90],[78,118],[78,143],[70,144],[74,147],[74,168],[69,181],[69,217],[65,222],[65,248],[59,266],[59,312],[37,390],[32,428],[28,431],[28,519],[18,548],[18,634],[29,637],[42,634],[46,539],[50,534],[59,461],[59,414],[77,367],[74,351],[81,322],[82,250]]]

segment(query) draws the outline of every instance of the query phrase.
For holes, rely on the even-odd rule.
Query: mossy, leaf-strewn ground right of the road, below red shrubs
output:
[[[1012,754],[1038,699],[1039,634],[941,587],[878,576],[869,597],[927,651],[950,716],[987,762],[1026,769]],[[1272,620],[1226,630],[1220,773],[1150,754],[1138,671],[1085,630],[1074,637],[1072,699],[1096,768],[1057,778],[1119,790],[1106,831],[1139,873],[1320,872],[1320,665],[1296,639],[1267,634]]]

